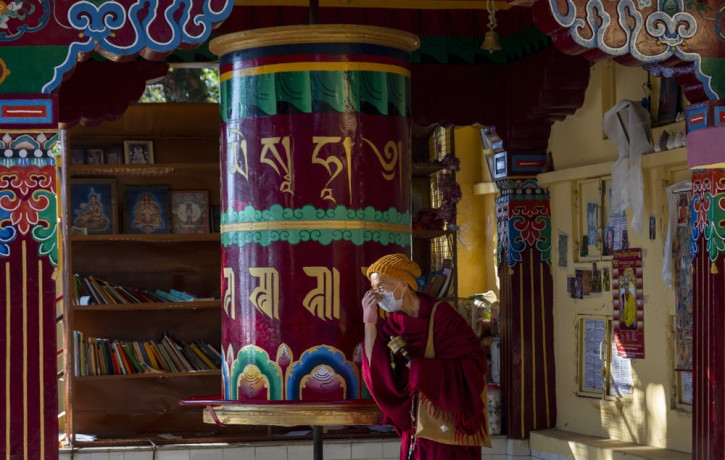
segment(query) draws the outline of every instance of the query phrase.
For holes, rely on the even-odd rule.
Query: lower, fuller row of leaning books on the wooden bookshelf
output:
[[[76,377],[194,372],[221,367],[221,353],[212,345],[203,340],[185,343],[169,335],[158,342],[141,342],[85,338],[82,332],[73,331],[73,357]]]

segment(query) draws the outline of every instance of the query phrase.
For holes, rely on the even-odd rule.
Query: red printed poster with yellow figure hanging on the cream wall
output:
[[[612,259],[614,342],[619,356],[644,358],[642,249],[614,251]]]

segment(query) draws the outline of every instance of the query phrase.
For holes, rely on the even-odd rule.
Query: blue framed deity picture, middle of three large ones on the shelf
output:
[[[125,233],[169,233],[169,186],[127,185],[123,228]]]

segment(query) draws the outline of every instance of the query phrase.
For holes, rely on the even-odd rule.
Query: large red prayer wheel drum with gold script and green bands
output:
[[[410,254],[410,53],[354,25],[217,38],[225,400],[369,398],[361,267]]]

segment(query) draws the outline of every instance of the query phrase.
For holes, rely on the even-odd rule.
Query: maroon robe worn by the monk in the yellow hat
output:
[[[388,423],[395,426],[401,437],[400,458],[408,458],[409,444],[414,432],[411,420],[413,397],[423,393],[439,409],[453,414],[456,427],[466,433],[477,431],[482,423],[481,392],[486,372],[486,355],[471,327],[448,303],[438,305],[433,323],[435,359],[424,358],[428,341],[428,322],[437,300],[418,293],[420,310],[417,318],[404,313],[392,313],[378,322],[378,336],[368,364],[363,356],[363,378],[375,402]],[[412,357],[410,369],[400,356],[395,357],[395,369],[390,365],[390,337],[402,335]],[[364,353],[365,347],[363,347]],[[480,460],[480,447],[442,444],[418,438],[412,459],[475,459]]]

